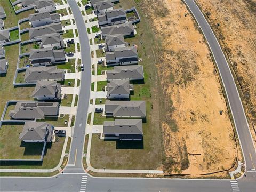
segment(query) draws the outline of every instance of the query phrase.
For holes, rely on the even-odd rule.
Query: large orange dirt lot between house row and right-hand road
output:
[[[180,0],[143,0],[140,6],[159,39],[159,100],[154,106],[159,105],[162,118],[163,170],[197,175],[229,169],[237,155],[233,129],[193,18]]]

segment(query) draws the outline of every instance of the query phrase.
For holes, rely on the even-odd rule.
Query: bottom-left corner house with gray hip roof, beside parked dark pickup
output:
[[[25,122],[19,139],[24,142],[52,142],[54,126],[47,122]]]

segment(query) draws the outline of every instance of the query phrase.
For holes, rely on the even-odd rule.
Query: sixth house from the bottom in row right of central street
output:
[[[114,51],[115,48],[124,48],[124,36],[122,34],[107,35],[105,39],[105,44],[107,51]]]

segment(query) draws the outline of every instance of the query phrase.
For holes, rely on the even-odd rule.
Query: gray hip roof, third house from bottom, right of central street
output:
[[[111,80],[107,83],[108,95],[110,94],[130,94],[129,79]]]

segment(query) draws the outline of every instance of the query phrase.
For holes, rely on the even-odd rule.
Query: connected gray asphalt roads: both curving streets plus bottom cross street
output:
[[[203,14],[192,0],[185,0],[189,9],[194,14],[199,26],[204,31],[205,37],[217,61],[222,81],[225,84],[228,94],[229,104],[233,112],[236,123],[236,129],[239,134],[239,140],[243,146],[243,152],[246,159],[247,171],[255,166],[255,150],[253,147],[251,135],[248,129],[247,121],[243,112],[243,106],[239,100],[233,77],[231,76],[225,57],[221,48],[215,39]],[[53,178],[0,178],[1,191],[246,191],[255,192],[256,173],[247,172],[246,177],[236,181],[230,180],[189,180],[189,179],[135,179],[135,178],[93,178],[86,175],[82,169],[82,153],[84,132],[86,125],[87,110],[90,98],[91,86],[91,60],[90,47],[86,34],[86,27],[82,14],[78,9],[75,0],[68,0],[71,10],[76,20],[81,44],[81,59],[85,65],[85,70],[81,77],[81,92],[79,95],[79,105],[74,129],[74,138],[72,141],[68,169],[64,174]],[[209,29],[210,28],[210,29]],[[250,158],[250,154],[251,157]],[[249,156],[248,156],[249,155]],[[81,185],[81,181],[83,183]],[[82,187],[86,186],[86,187]],[[235,186],[235,187],[234,187]]]

